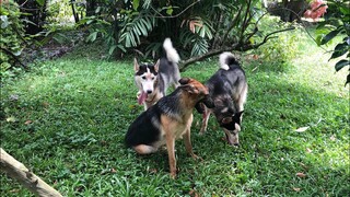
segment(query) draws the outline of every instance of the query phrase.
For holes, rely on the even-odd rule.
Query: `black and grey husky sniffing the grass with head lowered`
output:
[[[200,104],[197,108],[203,114],[200,134],[207,130],[208,119],[213,113],[225,132],[228,142],[231,146],[238,146],[238,132],[241,131],[248,84],[245,72],[233,54],[222,53],[219,56],[219,70],[206,83],[215,106],[208,108]]]

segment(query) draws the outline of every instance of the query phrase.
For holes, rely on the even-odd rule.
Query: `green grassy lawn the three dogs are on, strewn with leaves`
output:
[[[100,60],[89,49],[1,88],[1,147],[63,196],[348,196],[349,86],[314,45],[301,34],[284,70],[243,56],[249,92],[240,148],[222,140],[213,118],[200,136],[195,112],[191,140],[203,161],[177,141],[176,179],[166,151],[140,157],[124,146],[143,111],[132,59]],[[205,82],[217,69],[215,57],[182,76]],[[0,196],[33,196],[4,174],[0,181]]]

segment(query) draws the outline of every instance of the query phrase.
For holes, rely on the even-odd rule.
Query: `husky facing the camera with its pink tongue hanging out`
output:
[[[179,85],[180,74],[177,65],[179,56],[170,38],[165,38],[163,48],[165,56],[154,65],[139,65],[137,59],[133,59],[135,82],[139,89],[137,99],[140,105],[144,105],[144,111],[163,97],[170,85],[175,89]]]

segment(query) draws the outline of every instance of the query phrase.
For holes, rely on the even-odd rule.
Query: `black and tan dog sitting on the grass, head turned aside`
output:
[[[170,95],[143,112],[129,127],[125,138],[127,147],[139,154],[149,154],[166,144],[171,176],[176,176],[175,139],[184,137],[186,151],[195,159],[190,142],[192,111],[198,102],[213,107],[208,89],[200,82],[183,78],[180,85]]]

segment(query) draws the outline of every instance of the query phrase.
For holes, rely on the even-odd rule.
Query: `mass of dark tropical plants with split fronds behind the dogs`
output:
[[[273,34],[292,28],[268,33],[259,30],[259,22],[267,14],[258,0],[104,2],[97,3],[95,15],[80,22],[89,26],[86,40],[103,37],[109,56],[136,50],[154,57],[161,51],[161,42],[171,37],[185,59],[183,69],[224,50],[258,48]]]

